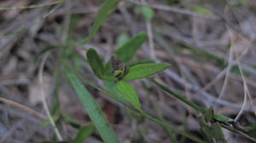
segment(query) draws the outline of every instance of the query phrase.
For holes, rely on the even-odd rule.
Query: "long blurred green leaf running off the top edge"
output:
[[[92,26],[92,29],[89,33],[89,36],[86,37],[85,40],[79,42],[79,45],[84,45],[86,43],[90,43],[92,38],[95,36],[96,32],[102,26],[102,23],[108,18],[108,15],[113,12],[113,9],[119,3],[120,0],[106,0],[103,4],[101,9],[98,11],[96,16],[96,20]]]

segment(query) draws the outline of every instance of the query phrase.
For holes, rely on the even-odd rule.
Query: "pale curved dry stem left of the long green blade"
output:
[[[62,137],[61,137],[61,134],[59,132],[59,130],[56,128],[56,125],[55,125],[55,122],[53,120],[53,118],[51,117],[50,113],[49,113],[49,108],[47,106],[47,102],[46,102],[46,99],[45,99],[45,93],[44,93],[44,86],[43,86],[43,71],[44,71],[44,64],[45,64],[45,61],[47,60],[49,56],[49,53],[46,53],[44,54],[44,57],[43,57],[43,60],[42,60],[42,63],[39,67],[39,72],[38,72],[38,81],[39,81],[39,84],[41,86],[41,89],[40,89],[40,95],[41,95],[41,99],[42,99],[42,103],[43,103],[43,106],[44,106],[44,110],[47,114],[47,117],[49,118],[49,122],[50,124],[54,127],[54,130],[55,130],[55,134],[58,138],[58,140],[62,141]]]

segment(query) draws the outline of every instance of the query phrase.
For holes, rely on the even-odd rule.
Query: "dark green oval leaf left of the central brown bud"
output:
[[[104,74],[104,66],[101,57],[97,54],[95,49],[88,49],[86,56],[94,74],[102,79]]]

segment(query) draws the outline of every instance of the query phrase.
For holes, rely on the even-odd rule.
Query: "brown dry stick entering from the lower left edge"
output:
[[[2,101],[4,103],[7,103],[7,104],[9,104],[11,106],[15,106],[16,108],[19,108],[20,110],[22,110],[24,112],[28,112],[29,114],[32,114],[33,116],[38,117],[41,120],[46,120],[47,119],[47,117],[45,117],[40,112],[37,112],[34,109],[32,109],[30,107],[27,107],[27,106],[24,106],[24,105],[22,105],[22,104],[20,104],[18,102],[13,101],[13,100],[8,100],[8,99],[5,99],[3,97],[0,97],[0,101]]]

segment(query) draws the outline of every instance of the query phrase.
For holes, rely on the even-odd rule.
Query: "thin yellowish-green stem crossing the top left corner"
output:
[[[59,0],[59,1],[55,1],[52,3],[44,3],[44,4],[37,4],[37,5],[30,5],[27,7],[15,7],[15,8],[0,8],[1,10],[16,10],[16,9],[35,9],[35,8],[41,8],[41,7],[46,7],[46,6],[50,6],[50,5],[55,5],[58,3],[63,3],[65,0]]]

